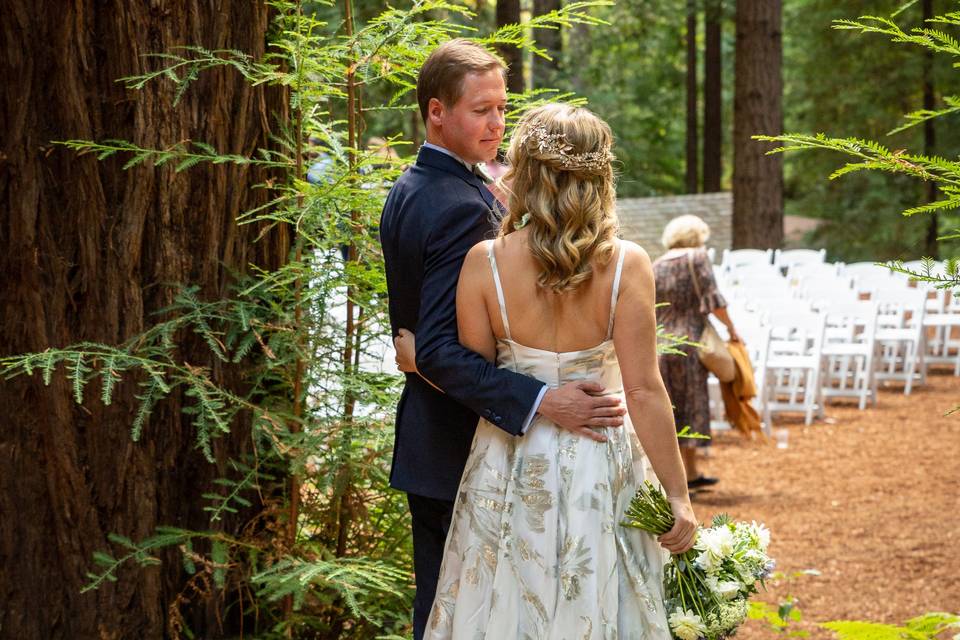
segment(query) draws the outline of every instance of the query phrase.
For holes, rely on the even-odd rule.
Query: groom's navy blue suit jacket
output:
[[[453,500],[482,416],[519,434],[543,383],[497,369],[460,345],[457,280],[467,251],[492,238],[494,198],[455,158],[422,148],[390,190],[380,219],[393,335],[417,336],[417,374],[397,406],[391,486]],[[492,277],[492,276],[491,276]],[[486,313],[477,309],[476,313]]]

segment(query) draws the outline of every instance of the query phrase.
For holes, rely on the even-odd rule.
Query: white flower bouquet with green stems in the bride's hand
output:
[[[644,483],[630,502],[623,526],[653,535],[673,527],[663,492]],[[731,522],[726,514],[697,532],[693,549],[675,555],[664,575],[668,621],[678,640],[719,640],[736,633],[747,600],[773,571],[770,531],[756,522]]]

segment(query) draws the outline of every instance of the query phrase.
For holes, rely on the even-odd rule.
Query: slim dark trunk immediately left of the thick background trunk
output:
[[[721,190],[723,176],[722,0],[707,0],[703,54],[703,192]]]

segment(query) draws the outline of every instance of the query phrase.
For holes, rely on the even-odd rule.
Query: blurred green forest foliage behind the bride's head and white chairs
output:
[[[497,6],[514,3],[475,3],[476,18],[469,24],[481,33],[498,23]],[[520,3],[515,3],[517,7]],[[560,6],[557,0],[524,3],[525,14]],[[931,56],[916,47],[891,45],[879,36],[851,37],[832,29],[834,20],[862,15],[887,16],[903,7],[903,0],[785,0],[782,3],[783,131],[823,132],[836,137],[878,140],[891,149],[924,149],[952,157],[960,148],[960,134],[950,121],[936,125],[935,142],[925,147],[923,127],[888,136],[903,123],[903,114],[924,107],[925,83],[939,100],[957,90],[952,60]],[[924,4],[929,7],[924,8]],[[528,5],[528,6],[527,6]],[[378,3],[367,3],[372,16]],[[719,9],[712,7],[719,7]],[[948,0],[916,2],[898,16],[905,29],[920,26],[924,11],[939,15],[954,9]],[[706,121],[704,57],[708,38],[705,18],[715,11],[720,30],[721,118]],[[550,87],[587,98],[591,109],[605,118],[617,137],[620,160],[618,194],[647,197],[696,193],[705,190],[703,163],[706,141],[719,136],[720,190],[732,188],[735,3],[713,0],[635,0],[592,12],[609,24],[577,26],[553,34],[544,44],[554,61],[530,53],[524,72],[529,87]],[[519,16],[519,12],[515,10]],[[697,131],[691,156],[687,34],[695,16]],[[507,12],[510,17],[510,12]],[[502,17],[500,18],[502,21]],[[550,34],[547,34],[550,35]],[[539,35],[540,40],[547,36]],[[558,46],[559,45],[559,46]],[[771,63],[775,64],[775,63]],[[929,71],[926,70],[929,67]],[[937,103],[939,104],[939,103]],[[687,115],[684,115],[684,114]],[[372,135],[402,129],[408,138],[418,130],[400,116],[372,118]],[[717,129],[716,131],[713,131]],[[688,167],[700,165],[691,188]],[[859,173],[839,180],[826,179],[843,164],[834,154],[788,155],[784,161],[784,213],[817,218],[818,228],[804,243],[825,247],[830,260],[916,260],[925,255],[953,255],[956,243],[936,243],[958,224],[957,216],[941,214],[936,232],[928,220],[910,220],[900,212],[926,201],[928,188],[909,176]],[[715,190],[715,189],[714,189]],[[864,230],[869,229],[870,233]]]

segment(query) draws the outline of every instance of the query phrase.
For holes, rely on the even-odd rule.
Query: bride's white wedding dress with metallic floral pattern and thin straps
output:
[[[497,364],[558,387],[573,380],[622,394],[607,338],[557,353],[511,339],[493,242],[488,254],[506,338]],[[644,479],[656,482],[629,416],[595,442],[538,417],[521,437],[480,420],[460,482],[425,638],[440,640],[669,640],[666,552],[620,526]]]

